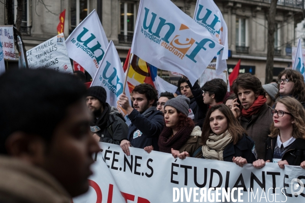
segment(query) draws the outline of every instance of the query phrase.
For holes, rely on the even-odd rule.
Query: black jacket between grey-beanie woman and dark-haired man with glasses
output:
[[[195,82],[195,84],[192,86],[190,81],[188,81],[187,83],[190,86],[192,94],[194,96],[193,98],[190,99],[191,102],[189,108],[192,109],[194,113],[195,125],[198,125],[200,126],[200,128],[202,128],[202,124],[206,116],[206,112],[208,110],[208,105],[203,103],[203,96],[202,96],[203,91],[201,90],[199,84]]]

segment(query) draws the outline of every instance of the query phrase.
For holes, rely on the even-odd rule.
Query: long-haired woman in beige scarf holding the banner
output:
[[[206,130],[201,134],[201,158],[234,162],[241,167],[256,160],[254,141],[226,105],[211,107],[202,129]],[[184,159],[190,155],[182,152],[177,156]]]

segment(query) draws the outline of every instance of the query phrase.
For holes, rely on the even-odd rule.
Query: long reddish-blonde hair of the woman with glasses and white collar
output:
[[[293,97],[285,96],[276,101],[275,107],[278,103],[283,104],[289,113],[292,114],[294,118],[292,137],[301,138],[305,140],[305,110],[303,106]],[[280,134],[280,129],[275,127],[275,123],[271,123],[270,127],[271,134],[269,137],[276,138]]]

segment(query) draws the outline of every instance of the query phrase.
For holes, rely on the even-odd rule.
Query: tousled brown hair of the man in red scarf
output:
[[[240,74],[236,80],[234,80],[232,89],[236,96],[238,95],[238,88],[251,89],[254,93],[265,96],[265,90],[261,81],[250,73]]]

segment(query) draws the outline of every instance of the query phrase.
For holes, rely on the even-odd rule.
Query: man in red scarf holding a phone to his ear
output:
[[[232,102],[231,111],[255,142],[258,159],[264,159],[265,143],[273,121],[262,83],[250,73],[240,74],[232,89],[237,98]]]

